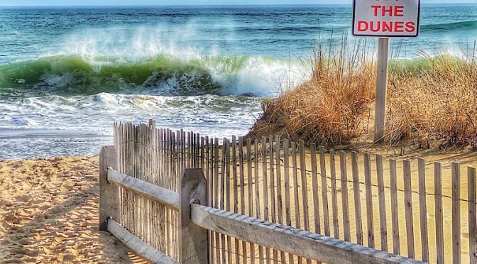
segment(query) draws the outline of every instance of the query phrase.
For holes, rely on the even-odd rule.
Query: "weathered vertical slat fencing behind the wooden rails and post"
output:
[[[307,151],[303,141],[278,137],[252,142],[232,136],[219,141],[193,132],[155,128],[151,122],[140,126],[117,123],[114,140],[118,172],[171,192],[179,192],[177,179],[182,171],[202,168],[209,189],[207,205],[223,214],[262,219],[424,262],[476,261],[476,173],[472,167],[463,178],[467,187],[463,198],[459,163],[452,163],[450,184],[444,181],[443,188],[440,163],[429,166],[417,159],[414,169],[410,160],[385,161],[380,155],[334,153],[314,145]],[[451,193],[445,186],[451,187]],[[103,207],[112,209],[100,219],[118,219],[151,248],[179,260],[177,211],[167,201],[158,202],[124,186],[116,194],[121,202],[115,206],[104,202]],[[463,204],[466,209],[461,210]],[[192,206],[192,211],[198,207]],[[206,211],[202,208],[197,214]],[[273,236],[247,236],[247,225],[223,230],[209,224],[197,225],[210,230],[211,263],[312,261],[306,249],[292,250],[296,243],[284,250]],[[226,224],[231,227],[233,223],[228,219]],[[107,229],[109,224],[103,226]],[[351,243],[346,245],[353,248]],[[339,250],[328,251],[333,252]]]

